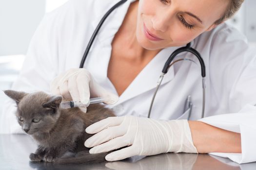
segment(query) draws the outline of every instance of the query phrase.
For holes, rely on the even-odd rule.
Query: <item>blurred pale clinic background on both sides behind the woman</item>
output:
[[[30,39],[46,12],[67,0],[0,0],[0,114],[9,89],[17,78]],[[256,0],[245,0],[228,21],[256,46]]]

